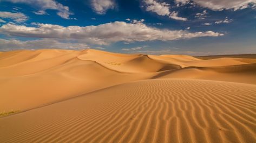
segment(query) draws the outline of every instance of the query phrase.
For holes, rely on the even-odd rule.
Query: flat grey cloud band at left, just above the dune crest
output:
[[[10,51],[14,49],[40,49],[40,48],[64,48],[64,49],[84,49],[89,48],[86,44],[60,42],[53,39],[41,39],[41,40],[5,40],[0,39],[0,51]]]

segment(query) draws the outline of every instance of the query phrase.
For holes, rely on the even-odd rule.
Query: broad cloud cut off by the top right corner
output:
[[[190,0],[175,0],[176,3],[188,3]],[[194,3],[212,10],[240,10],[256,4],[256,0],[192,0]]]

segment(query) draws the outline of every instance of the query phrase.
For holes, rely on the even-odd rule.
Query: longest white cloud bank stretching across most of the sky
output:
[[[207,31],[189,33],[184,30],[165,30],[149,27],[143,23],[114,22],[97,26],[68,26],[37,24],[37,27],[5,24],[0,33],[9,36],[76,40],[97,45],[107,45],[117,41],[176,40],[194,37],[218,37],[224,34]]]

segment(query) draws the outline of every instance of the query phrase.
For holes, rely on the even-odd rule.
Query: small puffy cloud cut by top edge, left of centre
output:
[[[91,6],[96,13],[104,15],[109,9],[114,9],[116,3],[114,0],[91,0]]]

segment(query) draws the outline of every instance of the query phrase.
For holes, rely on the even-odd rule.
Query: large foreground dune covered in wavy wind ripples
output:
[[[0,118],[0,142],[254,142],[256,85],[124,83]]]

